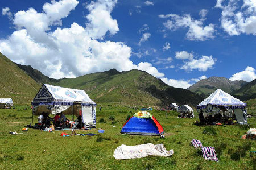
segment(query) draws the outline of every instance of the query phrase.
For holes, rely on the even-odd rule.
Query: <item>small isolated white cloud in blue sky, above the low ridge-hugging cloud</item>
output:
[[[180,69],[185,71],[192,71],[193,69],[198,69],[199,71],[207,71],[210,68],[213,68],[213,65],[217,59],[214,59],[212,56],[202,56],[199,59],[192,59],[189,61],[184,61],[184,65]]]

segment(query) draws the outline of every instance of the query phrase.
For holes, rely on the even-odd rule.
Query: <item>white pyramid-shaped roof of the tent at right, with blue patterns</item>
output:
[[[239,99],[231,96],[230,94],[224,92],[221,89],[217,89],[215,92],[210,94],[209,97],[204,99],[199,105],[197,105],[197,109],[205,108],[207,105],[213,105],[213,106],[226,106],[227,108],[243,108],[246,105],[246,103],[240,101]],[[228,107],[229,105],[229,107]],[[232,107],[233,106],[233,107]]]

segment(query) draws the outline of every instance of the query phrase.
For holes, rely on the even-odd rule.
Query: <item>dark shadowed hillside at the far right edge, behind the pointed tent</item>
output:
[[[242,101],[256,98],[256,79],[232,92],[232,95]]]

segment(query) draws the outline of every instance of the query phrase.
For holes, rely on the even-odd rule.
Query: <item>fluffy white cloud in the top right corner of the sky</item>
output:
[[[221,26],[229,35],[256,35],[255,0],[217,0],[215,7],[222,10]]]

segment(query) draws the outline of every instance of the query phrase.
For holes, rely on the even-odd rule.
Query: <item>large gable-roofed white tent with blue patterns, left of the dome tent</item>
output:
[[[43,84],[32,101],[33,114],[82,115],[85,127],[96,126],[96,103],[84,90]]]

